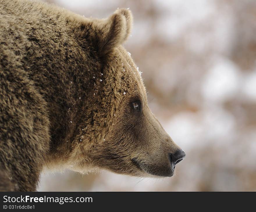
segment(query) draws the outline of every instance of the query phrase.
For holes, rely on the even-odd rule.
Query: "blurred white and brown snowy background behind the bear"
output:
[[[131,9],[125,47],[152,112],[186,158],[162,179],[47,172],[39,191],[256,190],[256,1],[48,2],[97,18]]]

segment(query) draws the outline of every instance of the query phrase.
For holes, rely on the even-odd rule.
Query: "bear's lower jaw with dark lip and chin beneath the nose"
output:
[[[149,175],[158,176],[158,177],[172,177],[174,175],[175,165],[171,164],[162,167],[150,166],[143,162],[139,162],[137,158],[131,159],[132,164],[136,166],[136,168],[143,173],[147,173]]]

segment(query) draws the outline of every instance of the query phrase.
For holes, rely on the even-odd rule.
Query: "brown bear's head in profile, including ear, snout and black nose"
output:
[[[141,72],[122,46],[131,31],[130,10],[118,9],[85,25],[102,67],[93,76],[92,98],[81,114],[70,155],[73,169],[173,176],[185,153],[150,111]]]

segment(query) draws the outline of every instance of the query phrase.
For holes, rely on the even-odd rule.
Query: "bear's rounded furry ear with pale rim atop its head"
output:
[[[128,9],[118,9],[109,18],[97,24],[95,40],[100,55],[108,55],[113,48],[123,44],[131,32],[132,14]]]

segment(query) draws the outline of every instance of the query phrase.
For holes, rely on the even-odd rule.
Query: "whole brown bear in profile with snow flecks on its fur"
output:
[[[132,15],[88,19],[0,1],[0,190],[35,191],[43,167],[170,177],[185,153],[150,112],[122,47]]]

